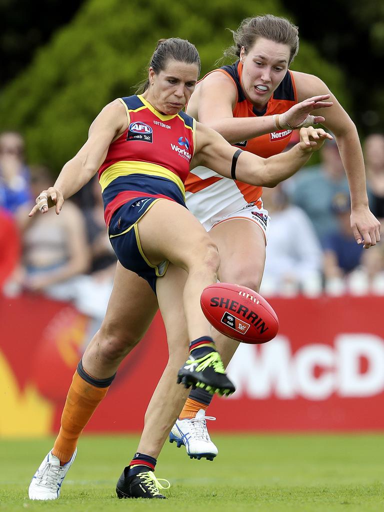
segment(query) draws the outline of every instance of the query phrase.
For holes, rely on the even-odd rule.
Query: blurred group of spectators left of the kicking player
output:
[[[54,182],[49,168],[25,162],[23,137],[0,134],[0,290],[70,301],[100,324],[112,290],[116,257],[105,230],[95,177],[60,215],[28,217],[41,190]]]

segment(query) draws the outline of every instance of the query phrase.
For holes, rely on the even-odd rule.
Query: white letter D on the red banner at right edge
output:
[[[371,396],[384,389],[384,346],[374,334],[344,334],[337,337],[340,396]],[[360,359],[368,370],[360,372]]]

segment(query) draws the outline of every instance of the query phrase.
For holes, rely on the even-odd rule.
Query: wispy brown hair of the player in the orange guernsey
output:
[[[244,46],[247,52],[259,37],[270,41],[281,42],[291,49],[288,65],[298,52],[298,28],[288,19],[265,14],[254,18],[243,19],[239,28],[233,34],[234,45],[225,50],[225,56],[240,57],[240,51]]]

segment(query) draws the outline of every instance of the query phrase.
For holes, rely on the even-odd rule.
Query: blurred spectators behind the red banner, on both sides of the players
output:
[[[369,202],[384,219],[384,135],[364,141]],[[338,148],[327,141],[320,163],[264,190],[272,219],[261,293],[384,295],[383,244],[363,249],[350,227],[348,182]],[[112,289],[116,257],[103,220],[95,177],[59,216],[54,208],[28,217],[41,190],[54,181],[49,168],[25,161],[22,135],[0,134],[0,290],[71,301],[101,321]]]

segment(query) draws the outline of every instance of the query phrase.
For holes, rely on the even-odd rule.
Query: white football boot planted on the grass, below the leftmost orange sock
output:
[[[62,481],[75,460],[76,454],[77,448],[71,459],[60,466],[59,459],[49,452],[33,475],[28,489],[29,498],[31,500],[57,500]]]

